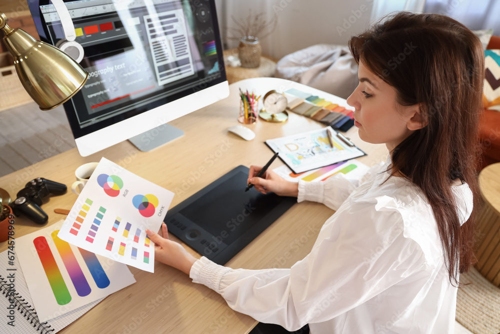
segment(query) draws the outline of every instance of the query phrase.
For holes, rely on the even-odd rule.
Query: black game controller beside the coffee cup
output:
[[[48,220],[47,214],[40,208],[42,198],[48,195],[62,195],[67,187],[58,182],[38,177],[26,183],[19,190],[17,198],[11,203],[12,211],[16,216],[24,214],[37,224],[44,224]]]

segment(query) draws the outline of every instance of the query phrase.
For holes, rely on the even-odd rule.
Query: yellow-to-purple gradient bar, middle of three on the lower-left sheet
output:
[[[91,291],[87,279],[85,278],[85,275],[83,275],[83,271],[81,271],[80,265],[78,264],[78,261],[76,261],[76,257],[74,257],[71,247],[69,247],[69,243],[59,239],[59,237],[57,237],[58,232],[59,230],[55,230],[51,234],[52,240],[54,240],[55,248],[57,248],[57,251],[61,256],[62,263],[64,263],[64,266],[66,267],[76,293],[78,293],[80,297],[87,296]]]

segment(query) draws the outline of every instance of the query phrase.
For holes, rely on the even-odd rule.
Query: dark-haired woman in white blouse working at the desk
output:
[[[250,167],[258,191],[336,210],[311,252],[290,269],[233,270],[195,259],[163,225],[164,238],[147,232],[156,259],[288,330],[453,332],[458,273],[473,259],[481,44],[448,17],[399,13],[349,47],[359,85],[347,103],[359,137],[387,146],[385,164],[359,184],[336,174],[297,185]]]

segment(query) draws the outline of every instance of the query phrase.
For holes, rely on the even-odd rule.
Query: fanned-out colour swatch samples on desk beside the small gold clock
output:
[[[286,109],[289,111],[309,117],[340,131],[347,131],[354,125],[353,110],[295,88],[284,93],[288,101]]]

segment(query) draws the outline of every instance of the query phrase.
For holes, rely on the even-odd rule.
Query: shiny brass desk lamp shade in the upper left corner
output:
[[[36,41],[21,29],[12,29],[0,13],[3,42],[14,59],[22,86],[41,110],[55,108],[83,87],[88,73],[71,57],[50,44]]]

